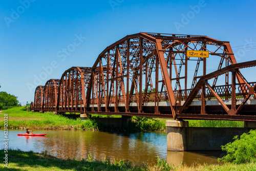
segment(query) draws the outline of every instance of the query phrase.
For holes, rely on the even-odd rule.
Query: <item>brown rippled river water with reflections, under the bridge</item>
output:
[[[186,163],[218,164],[222,152],[167,152],[166,132],[107,133],[100,131],[36,130],[45,137],[17,136],[24,130],[8,131],[8,146],[22,151],[47,152],[62,159],[80,159],[91,155],[95,159],[125,159],[133,163],[154,164],[157,157],[175,165]],[[4,148],[4,131],[0,148]]]

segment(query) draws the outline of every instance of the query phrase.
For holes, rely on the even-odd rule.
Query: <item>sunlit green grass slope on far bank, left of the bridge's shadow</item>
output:
[[[13,129],[29,127],[29,129],[97,130],[94,120],[81,121],[80,118],[69,119],[52,112],[38,113],[24,110],[25,107],[8,109],[0,113],[0,118],[3,120],[4,114],[8,114],[8,127]],[[3,127],[4,122],[0,122],[0,128]]]

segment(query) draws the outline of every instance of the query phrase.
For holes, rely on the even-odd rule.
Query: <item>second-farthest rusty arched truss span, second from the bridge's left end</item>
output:
[[[59,79],[50,79],[46,82],[44,91],[44,111],[57,111]]]

